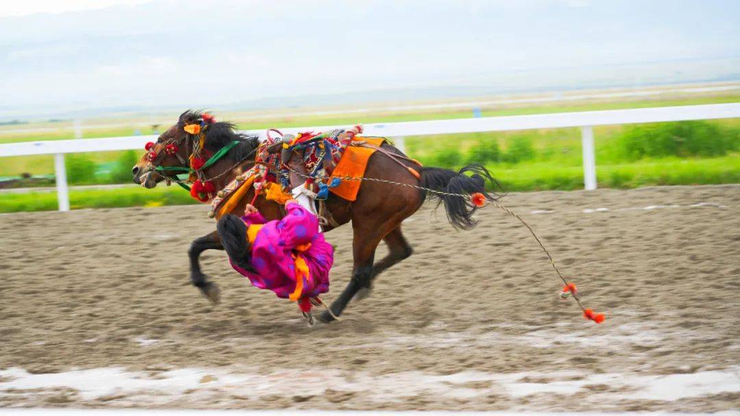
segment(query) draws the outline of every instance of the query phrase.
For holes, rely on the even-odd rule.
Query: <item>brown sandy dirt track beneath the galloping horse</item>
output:
[[[740,408],[740,185],[509,194],[454,231],[426,205],[414,255],[342,321],[309,328],[221,251],[189,285],[206,206],[0,215],[0,406]],[[331,301],[351,271],[338,246]],[[381,248],[376,256],[385,252]]]

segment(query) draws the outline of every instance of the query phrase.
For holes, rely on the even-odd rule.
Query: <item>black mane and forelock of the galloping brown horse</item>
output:
[[[178,125],[185,126],[188,123],[197,123],[203,117],[203,112],[196,110],[187,110],[182,113],[178,119]],[[212,152],[219,151],[228,146],[233,141],[240,142],[229,155],[233,155],[235,160],[243,160],[250,156],[250,153],[260,145],[259,136],[256,134],[243,134],[238,132],[236,125],[228,121],[218,121],[209,124],[206,129],[206,149]],[[252,155],[253,156],[253,155]]]

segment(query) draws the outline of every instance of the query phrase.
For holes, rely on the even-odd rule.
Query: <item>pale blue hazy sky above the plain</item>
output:
[[[414,100],[740,79],[738,64],[740,1],[24,0],[0,8],[0,119],[373,91]]]

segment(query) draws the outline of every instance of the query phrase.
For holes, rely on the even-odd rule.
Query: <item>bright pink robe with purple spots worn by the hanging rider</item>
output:
[[[264,224],[252,244],[253,273],[235,265],[232,267],[243,274],[253,285],[269,289],[280,298],[287,298],[296,286],[294,255],[301,256],[309,267],[309,278],[304,279],[302,296],[317,296],[329,290],[329,270],[334,263],[334,249],[319,232],[318,219],[310,211],[295,202],[286,204],[286,216],[280,220],[266,222],[259,214],[248,214],[241,219],[247,227]],[[298,252],[299,245],[311,246]]]

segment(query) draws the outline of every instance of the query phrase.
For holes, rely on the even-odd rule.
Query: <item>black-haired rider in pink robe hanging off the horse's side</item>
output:
[[[225,215],[216,229],[235,270],[260,289],[298,301],[312,322],[312,304],[322,304],[318,296],[329,290],[334,250],[312,212],[296,200],[287,201],[285,208],[283,219],[266,222],[249,204],[244,216]]]

